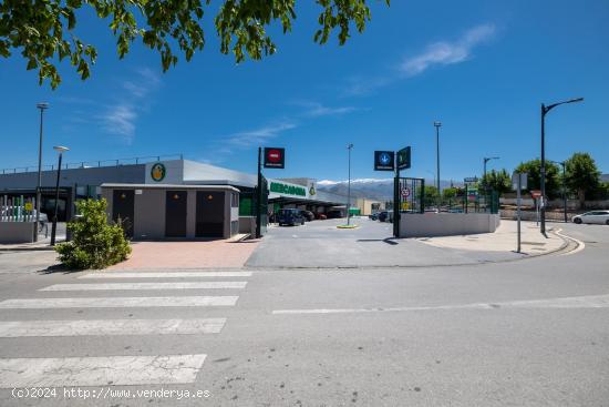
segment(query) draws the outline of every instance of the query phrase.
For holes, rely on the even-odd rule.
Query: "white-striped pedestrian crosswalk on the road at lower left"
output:
[[[107,340],[120,340],[121,345],[125,345],[130,344],[130,338],[134,336],[152,339],[176,335],[175,340],[179,340],[179,335],[217,335],[227,318],[216,315],[193,317],[193,311],[196,311],[196,316],[200,316],[202,312],[207,314],[235,306],[239,299],[239,296],[235,295],[239,292],[235,291],[245,289],[247,281],[244,278],[250,276],[250,272],[203,271],[89,273],[78,277],[78,283],[42,287],[32,298],[0,301],[0,344],[1,340],[14,338],[43,342],[49,337],[71,340],[71,337],[97,336]],[[230,279],[236,277],[238,281]],[[184,281],[176,281],[177,278]],[[86,279],[92,282],[81,283]],[[97,282],[100,279],[118,282]],[[124,291],[134,295],[121,296]],[[164,291],[167,295],[145,296],[151,292]],[[226,293],[229,295],[210,295],[219,291],[229,291]],[[74,315],[74,308],[79,308],[78,313],[83,313],[83,309],[103,308],[106,309],[104,316],[116,315],[116,318],[73,319],[70,316]],[[125,318],[125,311],[134,313],[136,309],[142,309],[144,314],[153,309],[166,309],[163,315],[167,316],[167,312],[171,312],[171,318],[155,317],[154,312],[151,318],[142,318],[142,315],[137,315],[137,318]],[[44,311],[53,316],[59,314],[60,318],[39,317],[32,320],[31,317],[14,317],[28,311]],[[154,340],[151,343],[154,344]],[[49,354],[44,355],[48,357],[29,357],[23,352],[19,352],[18,355],[2,353],[0,388],[192,384],[206,358],[205,354],[198,352],[142,355],[128,354],[131,346],[123,348],[126,349],[125,354],[94,355],[89,352],[65,357],[61,356],[61,348],[49,349]]]

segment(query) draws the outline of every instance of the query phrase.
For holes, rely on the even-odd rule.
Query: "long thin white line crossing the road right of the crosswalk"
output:
[[[514,301],[506,303],[477,303],[464,305],[442,305],[422,307],[376,307],[376,308],[319,308],[319,309],[276,309],[273,315],[286,314],[355,314],[407,311],[442,309],[497,309],[497,308],[609,308],[609,294],[581,297]]]

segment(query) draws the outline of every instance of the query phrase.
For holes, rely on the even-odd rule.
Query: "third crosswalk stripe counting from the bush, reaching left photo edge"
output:
[[[0,302],[0,309],[38,308],[122,308],[122,307],[209,307],[233,306],[238,296],[190,297],[84,297],[84,298],[17,298]]]

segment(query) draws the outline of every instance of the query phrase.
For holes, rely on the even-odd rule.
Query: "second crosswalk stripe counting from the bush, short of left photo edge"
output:
[[[102,291],[102,289],[241,289],[247,282],[196,282],[196,283],[100,283],[54,284],[40,288],[41,292]]]

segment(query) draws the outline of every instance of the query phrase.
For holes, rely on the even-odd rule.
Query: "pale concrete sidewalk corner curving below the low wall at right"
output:
[[[539,226],[535,222],[523,222],[520,234],[520,253],[527,256],[548,254],[562,248],[566,242],[554,232],[560,230],[560,225],[551,224],[547,227],[547,236],[539,233]],[[502,220],[495,233],[482,233],[475,235],[422,237],[417,241],[425,244],[474,252],[515,252],[517,245],[517,222]]]

